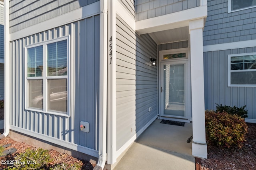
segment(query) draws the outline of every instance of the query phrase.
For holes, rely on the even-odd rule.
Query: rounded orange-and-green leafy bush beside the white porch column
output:
[[[209,140],[217,146],[242,148],[248,129],[242,117],[205,111],[205,124]]]

